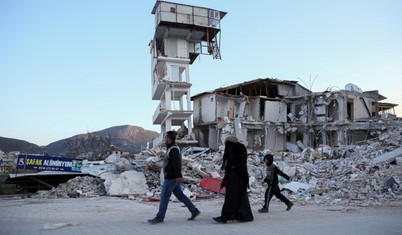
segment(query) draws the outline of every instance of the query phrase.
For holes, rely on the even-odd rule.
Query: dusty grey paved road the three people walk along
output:
[[[120,198],[0,199],[0,234],[402,234],[402,207],[360,208],[285,206],[273,202],[270,214],[251,223],[217,224],[222,200],[197,201],[202,214],[188,222],[180,203],[169,205],[163,224],[149,225],[158,203]],[[71,223],[53,230],[45,224]]]

